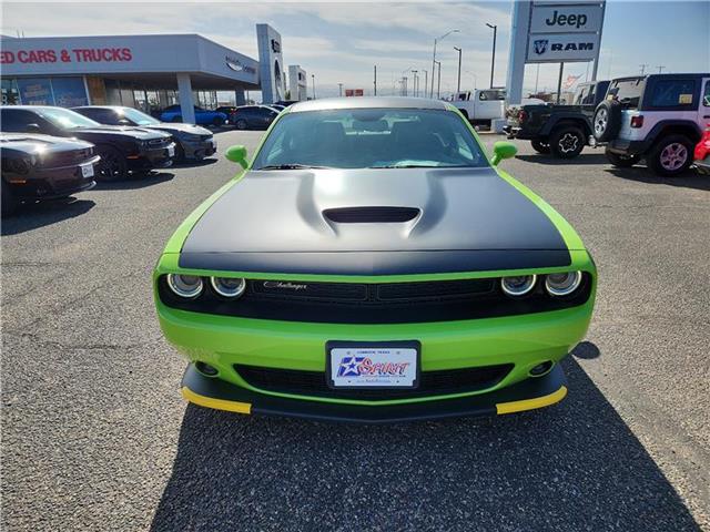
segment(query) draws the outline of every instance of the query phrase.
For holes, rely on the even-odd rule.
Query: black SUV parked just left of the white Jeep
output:
[[[523,105],[508,119],[508,139],[528,140],[538,153],[574,158],[592,133],[591,119],[609,86],[608,81],[580,83],[571,105]]]

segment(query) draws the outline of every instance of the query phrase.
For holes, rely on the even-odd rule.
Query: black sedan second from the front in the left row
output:
[[[161,131],[101,125],[74,111],[39,105],[0,108],[3,132],[69,136],[95,144],[101,155],[97,180],[125,178],[129,172],[146,173],[173,163],[175,143]]]

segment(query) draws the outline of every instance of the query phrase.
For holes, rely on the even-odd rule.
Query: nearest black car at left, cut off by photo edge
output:
[[[59,200],[93,187],[99,155],[71,139],[0,133],[2,216],[26,202]]]

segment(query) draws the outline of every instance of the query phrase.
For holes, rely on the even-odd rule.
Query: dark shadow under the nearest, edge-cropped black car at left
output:
[[[57,202],[24,204],[18,212],[0,223],[0,234],[18,235],[28,231],[81,216],[91,211],[95,203],[91,200],[69,197]]]

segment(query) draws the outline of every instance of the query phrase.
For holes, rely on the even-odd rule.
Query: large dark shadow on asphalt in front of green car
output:
[[[326,424],[190,405],[151,530],[698,530],[575,358],[564,368],[561,403],[495,419]]]

